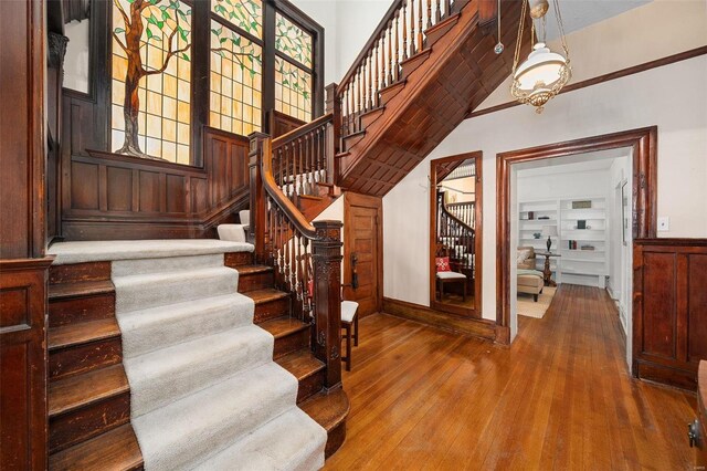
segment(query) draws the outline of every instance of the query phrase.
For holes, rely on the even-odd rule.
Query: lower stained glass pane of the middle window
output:
[[[262,55],[260,45],[211,21],[211,126],[243,136],[261,129]]]

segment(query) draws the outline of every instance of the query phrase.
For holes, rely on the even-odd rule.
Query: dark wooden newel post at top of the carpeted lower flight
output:
[[[249,242],[255,245],[255,260],[263,262],[265,258],[265,190],[261,175],[261,161],[265,151],[270,151],[270,136],[253,133],[249,151],[249,170],[251,176],[251,227]]]

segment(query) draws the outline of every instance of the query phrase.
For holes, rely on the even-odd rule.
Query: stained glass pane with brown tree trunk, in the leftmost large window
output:
[[[112,148],[189,164],[191,8],[113,1]]]

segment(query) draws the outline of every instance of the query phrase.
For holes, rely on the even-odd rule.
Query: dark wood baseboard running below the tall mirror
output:
[[[468,316],[463,317],[420,304],[391,300],[390,297],[383,297],[383,313],[409,321],[415,321],[443,331],[498,342],[496,323],[494,321]]]

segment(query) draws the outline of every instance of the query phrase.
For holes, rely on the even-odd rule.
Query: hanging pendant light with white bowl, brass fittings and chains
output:
[[[550,1],[552,1],[555,15],[557,18],[563,54],[550,51],[546,44],[548,0],[523,0],[518,38],[516,40],[516,54],[513,61],[510,94],[518,100],[518,102],[535,106],[536,113],[542,113],[545,104],[560,93],[572,76],[570,53],[564,39],[564,27],[562,24],[562,17],[560,15],[558,0]],[[530,11],[528,11],[528,9]],[[535,41],[536,39],[535,20],[539,20],[541,23],[542,39],[535,43],[528,59],[518,65],[526,14],[529,14],[531,18],[530,40]]]

